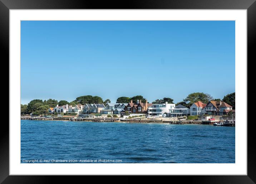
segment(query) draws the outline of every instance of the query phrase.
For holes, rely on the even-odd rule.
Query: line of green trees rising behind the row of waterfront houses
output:
[[[146,98],[144,98],[141,95],[133,96],[133,97],[118,97],[116,103],[129,103],[131,100],[133,100],[134,103],[136,103],[137,100],[141,100],[141,102],[146,103]],[[209,101],[220,101],[221,99],[215,99],[210,94],[207,93],[191,93],[188,94],[186,98],[183,99],[182,102],[176,103],[176,106],[178,104],[182,104],[183,106],[190,108],[190,106],[197,102],[201,101],[203,103],[208,103]],[[222,101],[230,104],[233,106],[233,109],[235,109],[235,93],[227,94],[223,97]],[[173,99],[169,97],[164,97],[163,99],[156,99],[152,103],[173,103]],[[71,105],[75,106],[76,104],[85,104],[85,103],[110,103],[109,99],[106,99],[103,101],[103,99],[99,96],[92,96],[92,95],[85,95],[77,97],[74,101],[68,102],[66,100],[55,100],[55,99],[48,99],[48,100],[41,100],[41,99],[34,99],[30,101],[28,104],[21,104],[21,114],[46,114],[48,113],[48,108],[54,108],[57,104],[59,106],[63,105]]]

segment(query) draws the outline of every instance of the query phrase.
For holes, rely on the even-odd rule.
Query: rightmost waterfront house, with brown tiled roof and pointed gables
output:
[[[232,106],[222,101],[210,101],[206,104],[205,111],[209,115],[221,116],[227,114],[229,111],[232,111]],[[233,113],[235,113],[235,111]]]

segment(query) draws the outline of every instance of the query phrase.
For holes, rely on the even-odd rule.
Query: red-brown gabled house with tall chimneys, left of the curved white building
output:
[[[131,100],[130,103],[125,106],[124,111],[128,111],[128,113],[147,113],[148,107],[150,107],[152,103],[148,103],[146,99],[146,103],[142,103],[141,100],[137,100],[137,103],[133,103]]]

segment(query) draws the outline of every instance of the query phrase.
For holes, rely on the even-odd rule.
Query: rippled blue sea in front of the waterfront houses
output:
[[[235,127],[21,120],[21,163],[235,163]]]

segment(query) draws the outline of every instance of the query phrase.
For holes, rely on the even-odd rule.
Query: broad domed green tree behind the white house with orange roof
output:
[[[212,99],[213,98],[210,94],[197,92],[197,93],[189,94],[185,99],[183,99],[183,101],[186,102],[190,107],[190,106],[192,106],[193,103],[195,103],[197,101],[201,101],[203,103],[208,103]]]

